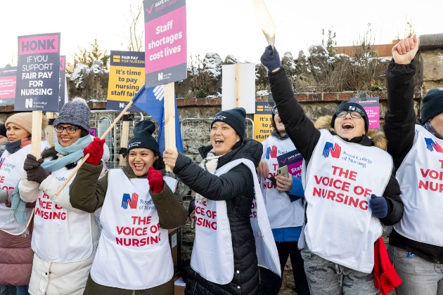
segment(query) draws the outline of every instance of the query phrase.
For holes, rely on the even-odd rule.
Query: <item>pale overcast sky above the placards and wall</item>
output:
[[[68,62],[78,48],[97,39],[102,50],[127,50],[135,0],[4,0],[1,1],[0,67],[17,63],[17,37],[60,32],[61,55]],[[264,0],[276,26],[276,48],[297,57],[321,44],[321,30],[332,29],[338,46],[360,41],[371,23],[373,44],[404,37],[406,22],[418,34],[443,33],[443,1],[295,1]],[[243,62],[259,63],[267,46],[252,0],[187,0],[188,56],[231,54]],[[143,26],[140,30],[143,30]]]

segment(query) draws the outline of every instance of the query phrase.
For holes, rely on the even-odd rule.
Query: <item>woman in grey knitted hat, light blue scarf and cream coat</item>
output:
[[[98,244],[96,218],[71,206],[69,185],[58,195],[56,192],[91,143],[90,113],[82,99],[65,103],[53,123],[56,145],[46,150],[39,161],[32,155],[25,159],[20,197],[25,202],[37,201],[30,294],[82,294],[86,285]]]

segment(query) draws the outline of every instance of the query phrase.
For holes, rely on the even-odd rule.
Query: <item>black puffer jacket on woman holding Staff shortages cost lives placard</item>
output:
[[[200,148],[203,158],[211,146]],[[240,146],[219,157],[217,169],[235,159],[250,159],[255,166],[262,157],[262,144],[245,139]],[[254,183],[250,169],[240,164],[230,171],[215,176],[203,170],[192,160],[179,154],[174,173],[181,181],[207,199],[226,201],[229,226],[231,227],[234,276],[229,284],[215,284],[205,280],[191,268],[183,274],[186,294],[258,294],[259,275],[255,240],[250,223],[254,198]]]

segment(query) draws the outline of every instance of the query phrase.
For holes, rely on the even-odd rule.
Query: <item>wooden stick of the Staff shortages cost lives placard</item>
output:
[[[163,89],[165,91],[165,148],[176,149],[174,82],[166,84]],[[172,171],[172,169],[166,166],[166,171]]]

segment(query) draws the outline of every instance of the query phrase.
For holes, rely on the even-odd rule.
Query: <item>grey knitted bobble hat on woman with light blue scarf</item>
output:
[[[86,100],[83,98],[74,98],[70,103],[65,103],[58,113],[57,119],[54,121],[54,126],[60,124],[70,124],[78,126],[89,132],[89,116],[91,110],[86,105]]]

